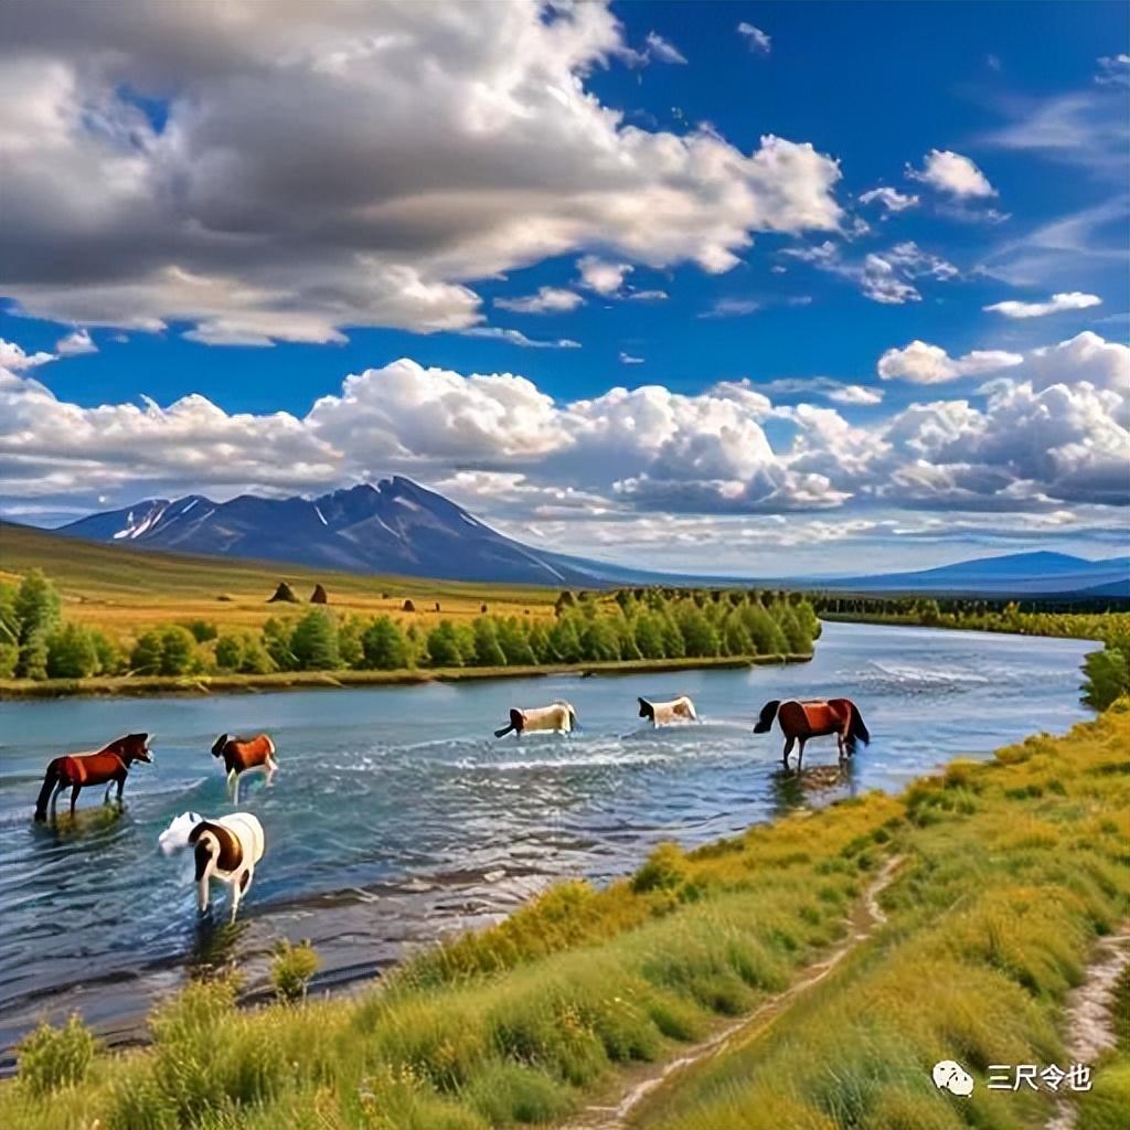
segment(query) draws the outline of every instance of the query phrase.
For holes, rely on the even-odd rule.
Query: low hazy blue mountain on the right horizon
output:
[[[1130,597],[1130,557],[1093,562],[1048,551],[1006,554],[914,573],[835,577],[822,582],[820,588],[851,592]]]

